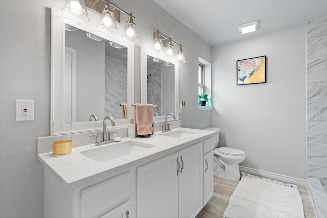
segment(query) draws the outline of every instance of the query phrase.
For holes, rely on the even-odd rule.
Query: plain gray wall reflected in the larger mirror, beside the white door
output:
[[[85,32],[66,31],[65,45],[76,50],[76,120],[87,122],[91,114],[101,119],[105,111],[105,41],[89,39]]]

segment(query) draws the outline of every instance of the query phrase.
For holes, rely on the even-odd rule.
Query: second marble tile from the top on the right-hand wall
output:
[[[308,40],[308,61],[327,58],[327,37]]]

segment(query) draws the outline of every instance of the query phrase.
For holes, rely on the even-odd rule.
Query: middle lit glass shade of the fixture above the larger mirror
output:
[[[101,13],[97,24],[97,29],[101,32],[108,32],[112,34],[118,33],[116,20],[114,18],[113,12],[108,8],[108,6],[106,6]]]

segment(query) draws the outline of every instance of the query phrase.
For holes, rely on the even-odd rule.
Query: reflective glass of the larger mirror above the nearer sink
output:
[[[65,121],[87,122],[92,114],[126,118],[121,104],[127,103],[127,48],[65,29]]]

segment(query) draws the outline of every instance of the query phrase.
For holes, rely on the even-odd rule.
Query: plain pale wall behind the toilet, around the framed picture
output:
[[[245,151],[240,165],[306,179],[306,25],[212,49],[220,146]],[[236,61],[267,56],[267,83],[236,85]]]

